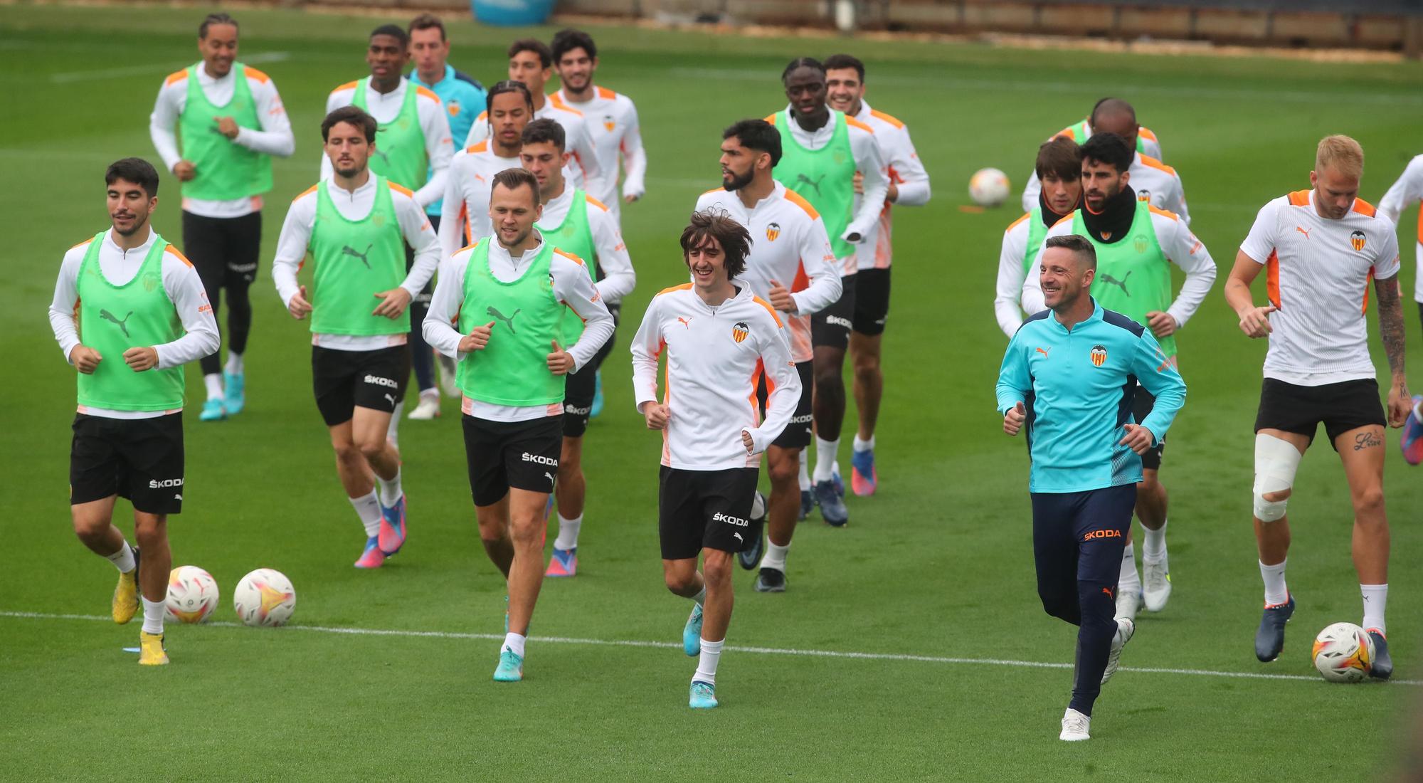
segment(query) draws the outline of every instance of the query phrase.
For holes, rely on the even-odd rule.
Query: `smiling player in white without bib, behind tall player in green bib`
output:
[[[875,423],[879,420],[879,400],[884,396],[884,373],[879,370],[879,343],[889,316],[889,263],[892,261],[894,205],[922,206],[929,202],[929,172],[909,140],[909,128],[898,118],[869,108],[865,103],[865,64],[850,54],[834,54],[825,60],[827,103],[845,117],[854,117],[875,131],[875,142],[888,167],[889,186],[885,192],[879,222],[872,239],[855,248],[855,310],[850,319],[850,359],[855,369],[855,409],[859,430],[851,441],[850,487],[857,495],[872,495],[879,485],[875,468]],[[862,177],[861,177],[862,181]],[[862,191],[857,185],[857,192]],[[858,206],[858,205],[857,205]]]

